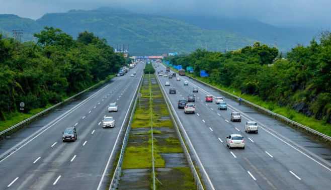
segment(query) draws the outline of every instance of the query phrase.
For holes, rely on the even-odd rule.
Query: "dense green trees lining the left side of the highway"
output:
[[[82,32],[76,40],[45,27],[37,43],[0,34],[0,121],[11,113],[44,108],[106,79],[126,64],[105,39]]]

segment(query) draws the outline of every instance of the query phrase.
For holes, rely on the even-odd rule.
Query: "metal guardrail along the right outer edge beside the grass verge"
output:
[[[236,99],[236,100],[239,99],[239,97],[233,95],[232,93],[229,93],[229,92],[227,92],[227,91],[224,91],[224,90],[222,90],[222,89],[219,89],[219,88],[217,88],[217,87],[215,87],[215,86],[212,86],[212,85],[210,85],[210,84],[208,84],[208,83],[206,83],[206,82],[203,82],[203,81],[201,81],[201,80],[198,80],[198,79],[196,79],[196,78],[194,78],[194,77],[192,77],[192,76],[190,76],[190,78],[193,79],[193,80],[195,80],[195,81],[198,81],[198,82],[200,82],[200,83],[202,83],[202,84],[204,84],[204,85],[207,85],[207,86],[209,86],[209,87],[211,87],[211,88],[214,88],[214,89],[216,89],[216,90],[218,90],[218,91],[220,91],[220,92],[222,92],[222,93],[225,93],[225,94],[227,94],[229,97],[232,97],[232,98],[234,98],[234,99]],[[318,132],[318,131],[316,131],[316,130],[313,130],[313,129],[307,127],[307,126],[304,126],[304,125],[302,125],[302,124],[300,124],[300,123],[298,123],[298,122],[292,121],[292,120],[290,120],[290,119],[288,119],[288,118],[286,118],[286,117],[284,117],[284,116],[282,116],[282,115],[276,114],[276,113],[274,113],[274,112],[272,112],[272,111],[270,111],[270,110],[267,110],[267,109],[265,109],[265,108],[263,108],[263,107],[261,107],[261,106],[258,106],[258,105],[256,105],[256,104],[253,104],[253,103],[251,103],[251,102],[249,102],[249,101],[246,101],[246,100],[244,100],[244,99],[242,99],[242,102],[244,102],[245,104],[250,105],[250,106],[252,106],[252,107],[254,107],[254,108],[257,108],[258,110],[260,110],[260,111],[262,111],[262,112],[265,112],[265,113],[267,113],[267,114],[269,114],[269,115],[272,115],[273,117],[278,118],[278,119],[280,119],[280,120],[282,120],[282,121],[284,121],[284,122],[286,122],[286,123],[288,123],[288,124],[291,124],[291,125],[293,125],[293,126],[300,127],[300,128],[302,128],[302,129],[304,129],[304,130],[306,130],[306,131],[308,131],[308,132],[310,132],[310,133],[312,133],[312,134],[314,134],[314,135],[318,135],[318,136],[322,137],[323,139],[325,139],[325,140],[327,140],[327,141],[331,141],[331,137],[329,137],[329,136],[327,136],[327,135],[325,135],[325,134],[323,134],[323,133],[320,133],[320,132]]]

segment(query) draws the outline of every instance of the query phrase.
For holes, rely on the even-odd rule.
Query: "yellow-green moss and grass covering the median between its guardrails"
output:
[[[138,100],[139,102],[134,111],[130,136],[122,164],[122,173],[125,175],[126,170],[134,169],[147,170],[145,170],[145,174],[135,176],[136,179],[134,181],[132,179],[125,180],[125,176],[122,176],[119,189],[131,189],[142,186],[145,188],[151,187],[152,189],[151,133],[153,133],[154,166],[157,178],[156,189],[196,189],[187,163],[169,167],[167,166],[167,159],[163,157],[168,155],[167,157],[172,157],[173,162],[173,159],[178,159],[178,156],[174,157],[172,155],[181,154],[182,160],[178,160],[178,163],[186,162],[154,74],[144,75],[140,93],[142,97]],[[151,125],[153,126],[152,130]]]

